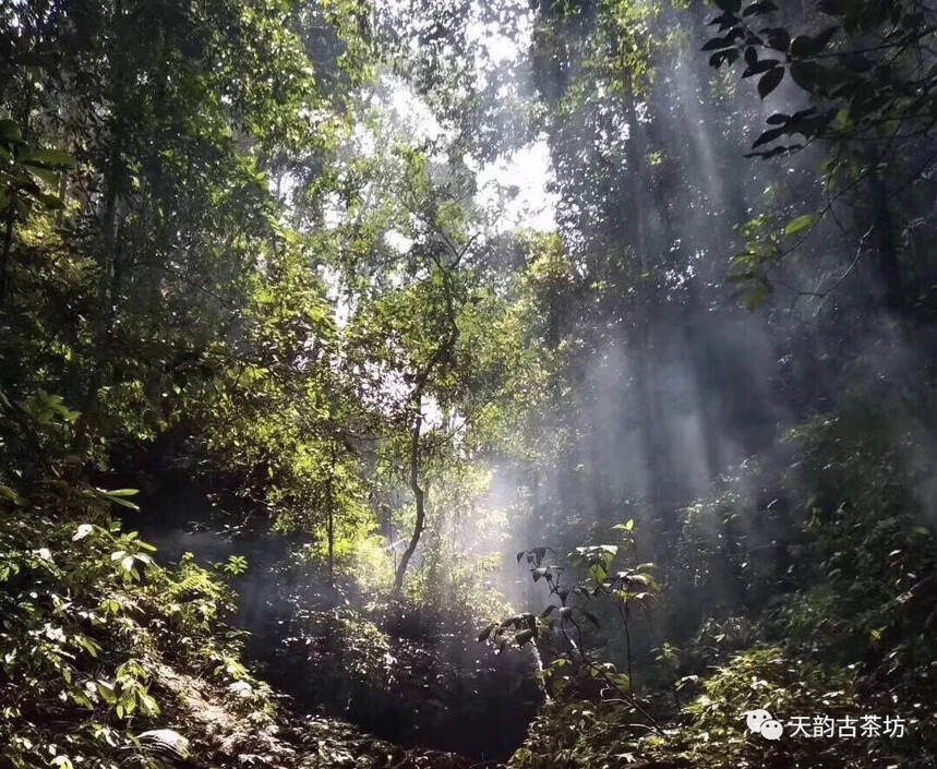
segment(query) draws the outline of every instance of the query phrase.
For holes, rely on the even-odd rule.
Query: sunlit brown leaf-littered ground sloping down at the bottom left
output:
[[[227,769],[471,769],[485,766],[451,753],[405,749],[349,723],[299,714],[287,702],[266,723],[252,723],[233,706],[237,693],[161,663],[157,688],[172,701],[173,729],[192,745],[195,764]],[[279,699],[288,700],[286,696]]]

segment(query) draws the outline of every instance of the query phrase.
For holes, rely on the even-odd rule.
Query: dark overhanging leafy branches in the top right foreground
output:
[[[782,12],[773,2],[714,4],[721,13],[710,24],[720,36],[704,46],[713,51],[710,64],[744,63],[742,76],[758,79],[762,99],[786,76],[806,100],[790,115],[771,115],[770,128],[754,142],[750,155],[774,158],[815,143],[829,153],[822,165],[822,205],[786,225],[785,233],[797,236],[786,253],[822,219],[836,218],[838,207],[852,207],[857,220],[870,217],[872,224],[857,223],[855,259],[826,292],[838,288],[864,255],[874,254],[881,303],[916,312],[912,309],[921,299],[906,292],[917,278],[927,279],[928,267],[902,242],[915,240],[912,223],[921,214],[918,200],[929,190],[928,170],[935,163],[929,149],[935,72],[928,55],[935,10],[901,0],[820,2],[815,11],[800,14]],[[810,33],[797,34],[805,24]],[[741,261],[753,264],[757,259],[758,252],[749,251]]]

